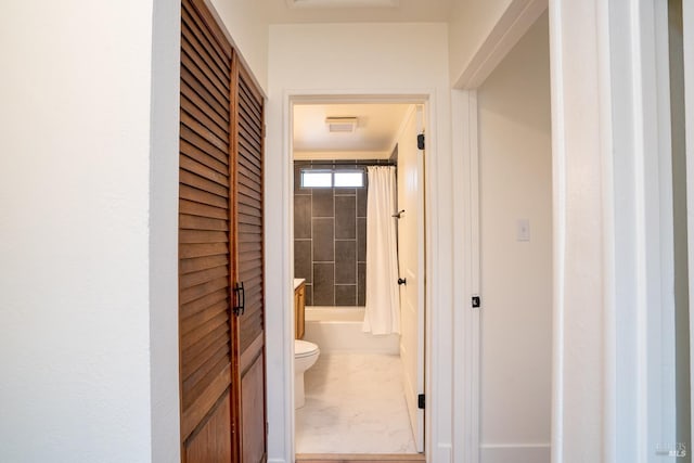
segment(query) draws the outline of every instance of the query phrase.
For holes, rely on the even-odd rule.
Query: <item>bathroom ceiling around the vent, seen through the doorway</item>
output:
[[[294,106],[295,159],[388,158],[410,104],[297,104]],[[354,132],[331,133],[325,118],[357,117]]]

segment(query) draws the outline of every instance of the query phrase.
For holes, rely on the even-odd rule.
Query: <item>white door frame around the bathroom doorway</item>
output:
[[[292,198],[294,197],[293,190],[293,181],[294,181],[294,169],[293,169],[293,146],[292,146],[292,127],[293,127],[293,107],[294,104],[297,103],[316,103],[316,104],[325,104],[325,103],[409,103],[409,104],[420,104],[423,106],[423,114],[425,119],[427,120],[428,133],[437,133],[436,131],[436,108],[435,106],[435,93],[433,90],[424,90],[424,91],[412,91],[412,92],[393,92],[393,90],[384,90],[384,91],[374,91],[370,93],[355,93],[355,92],[345,92],[345,91],[286,91],[284,94],[284,104],[283,104],[283,151],[281,156],[282,163],[282,171],[284,175],[284,198],[285,198],[285,209],[287,216],[285,220],[288,221],[288,224],[293,223],[293,214],[294,206]],[[436,137],[427,138],[427,152],[436,153],[437,152],[437,143]],[[428,172],[437,172],[440,169],[437,169],[435,164],[436,156],[430,155],[425,157],[425,235],[427,240],[424,243],[425,247],[425,273],[428,275],[427,284],[425,285],[425,320],[430,320],[430,307],[434,307],[434,294],[435,288],[433,286],[436,285],[436,279],[432,278],[433,274],[439,274],[441,271],[436,270],[436,266],[434,262],[433,254],[433,242],[428,236],[433,236],[435,230],[432,230],[430,224],[435,223],[437,219],[437,214],[441,209],[440,207],[436,207],[433,204],[432,197],[437,197],[435,188],[433,184],[435,182],[428,181],[429,175]],[[282,380],[283,383],[288,386],[283,388],[282,394],[282,408],[284,410],[284,429],[286,433],[286,438],[290,439],[288,442],[285,442],[285,448],[291,449],[291,454],[286,455],[286,461],[293,461],[296,454],[295,449],[295,410],[294,410],[294,310],[290,310],[292,305],[294,304],[294,291],[291,284],[291,276],[294,274],[294,229],[293,227],[287,227],[285,236],[285,249],[286,253],[282,255],[282,268],[284,270],[284,274],[287,278],[284,279],[286,282],[283,285],[283,294],[282,300],[285,304],[285,310],[282,311],[282,321],[280,331],[282,332],[281,345],[282,345],[282,363],[284,369],[282,371]],[[440,266],[440,263],[439,263]],[[280,322],[280,320],[277,320]],[[446,324],[446,323],[444,323]],[[274,326],[277,327],[277,326]],[[446,326],[437,326],[434,323],[425,323],[424,336],[424,376],[425,384],[424,389],[427,394],[435,394],[436,389],[434,388],[437,384],[441,384],[439,377],[441,373],[433,365],[433,352],[437,349],[436,343],[433,339],[440,338],[438,333],[442,331]],[[279,336],[279,331],[273,330],[271,326],[268,327],[268,336]],[[438,337],[437,337],[438,336]],[[439,350],[439,357],[448,357],[452,360],[452,352],[445,351],[444,349]],[[439,358],[440,361],[440,358]],[[441,411],[450,413],[449,406],[445,402],[438,402],[438,408]],[[436,422],[436,417],[440,413],[437,409],[437,401],[427,400],[427,410],[425,413],[425,422],[424,422],[424,454],[426,455],[427,461],[435,461],[435,452],[436,446],[439,443],[436,429],[434,429],[433,423]]]

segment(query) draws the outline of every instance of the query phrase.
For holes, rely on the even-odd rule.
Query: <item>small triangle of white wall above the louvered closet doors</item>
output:
[[[207,0],[227,27],[236,50],[253,70],[260,88],[268,90],[268,20],[257,0]]]

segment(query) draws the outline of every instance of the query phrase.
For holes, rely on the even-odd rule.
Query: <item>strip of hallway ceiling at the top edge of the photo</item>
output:
[[[450,17],[451,3],[460,0],[256,1],[264,3],[264,16],[270,24],[293,24],[447,22]]]

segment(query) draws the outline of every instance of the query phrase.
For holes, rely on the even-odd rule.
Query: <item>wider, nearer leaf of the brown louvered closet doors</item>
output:
[[[204,0],[183,0],[181,7],[181,459],[241,462],[233,312],[235,56]],[[265,410],[259,413],[265,420]]]

